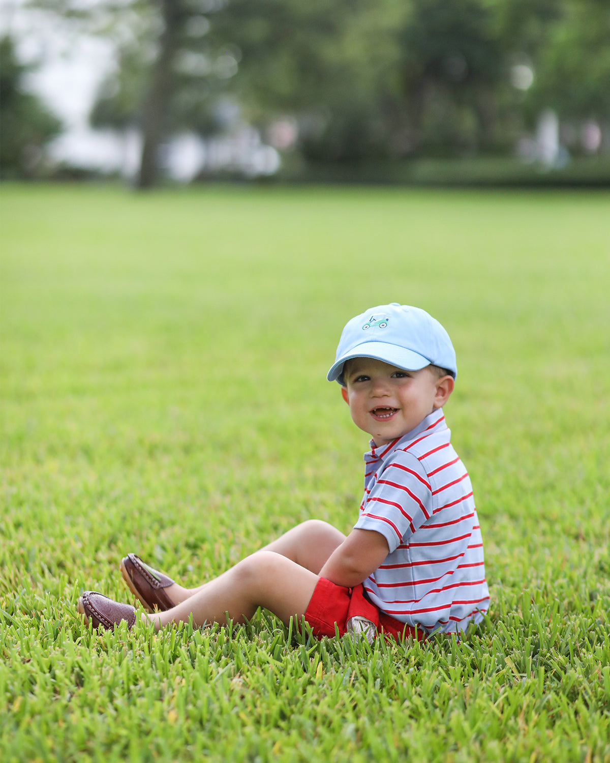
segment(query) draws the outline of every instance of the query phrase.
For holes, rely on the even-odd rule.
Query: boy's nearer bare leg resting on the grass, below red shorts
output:
[[[315,573],[273,551],[262,550],[242,559],[218,578],[206,583],[188,600],[148,617],[155,628],[168,623],[226,623],[226,613],[236,623],[250,619],[257,607],[265,607],[284,623],[303,616],[318,578]]]

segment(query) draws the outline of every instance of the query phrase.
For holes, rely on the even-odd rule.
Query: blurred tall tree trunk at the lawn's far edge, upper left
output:
[[[178,50],[181,2],[162,0],[162,16],[164,29],[159,37],[159,55],[152,71],[152,82],[142,114],[143,146],[140,174],[136,183],[138,188],[150,188],[156,182],[159,143],[174,85],[172,63]]]

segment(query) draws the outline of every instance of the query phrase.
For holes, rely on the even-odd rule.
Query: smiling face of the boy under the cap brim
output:
[[[383,360],[352,358],[345,363],[343,399],[357,427],[379,447],[415,429],[448,400],[451,376],[440,378],[429,366],[404,371]]]

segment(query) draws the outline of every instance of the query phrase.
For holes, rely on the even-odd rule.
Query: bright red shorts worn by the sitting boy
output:
[[[364,588],[361,585],[356,588],[344,588],[326,578],[319,578],[305,613],[305,620],[310,624],[313,635],[318,639],[323,636],[335,636],[336,626],[339,636],[343,636],[348,620],[355,616],[371,620],[378,633],[383,632],[385,636],[390,636],[396,641],[407,639],[409,636],[421,641],[425,636],[422,630],[401,623],[371,604],[364,597]]]

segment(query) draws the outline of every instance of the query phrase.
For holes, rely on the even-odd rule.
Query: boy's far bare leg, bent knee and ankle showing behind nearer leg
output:
[[[345,535],[328,522],[307,520],[307,522],[298,524],[278,539],[268,543],[261,550],[281,554],[318,575],[326,564],[326,560],[338,546],[341,546],[344,540]],[[165,593],[176,604],[181,604],[199,591],[203,591],[207,585],[209,583],[204,583],[197,588],[184,588],[175,583],[165,588]]]

